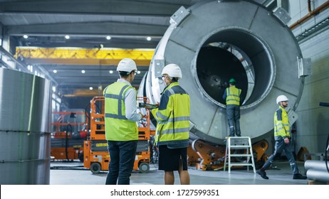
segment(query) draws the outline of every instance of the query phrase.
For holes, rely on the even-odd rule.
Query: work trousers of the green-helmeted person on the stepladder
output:
[[[240,106],[226,105],[227,120],[229,121],[229,136],[241,136],[240,131]]]

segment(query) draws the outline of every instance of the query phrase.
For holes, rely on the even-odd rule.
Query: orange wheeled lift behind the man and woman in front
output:
[[[145,97],[139,97],[137,100],[147,102]],[[83,165],[89,168],[93,173],[108,171],[110,156],[108,154],[108,144],[105,140],[105,121],[104,121],[104,97],[94,97],[90,101],[90,136],[84,142],[84,160]],[[135,163],[133,170],[143,173],[150,170],[150,112],[145,110],[147,117],[142,119],[138,127],[138,143]]]

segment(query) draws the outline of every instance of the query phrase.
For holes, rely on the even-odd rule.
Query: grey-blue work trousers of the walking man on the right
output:
[[[274,153],[268,158],[266,163],[264,163],[263,168],[267,169],[271,165],[271,163],[273,163],[274,157],[278,154],[281,154],[281,152],[284,151],[290,163],[291,171],[293,171],[293,174],[299,173],[295,158],[293,158],[291,142],[289,141],[289,144],[286,144],[282,136],[276,136],[275,140],[276,140],[276,146],[274,148]]]

